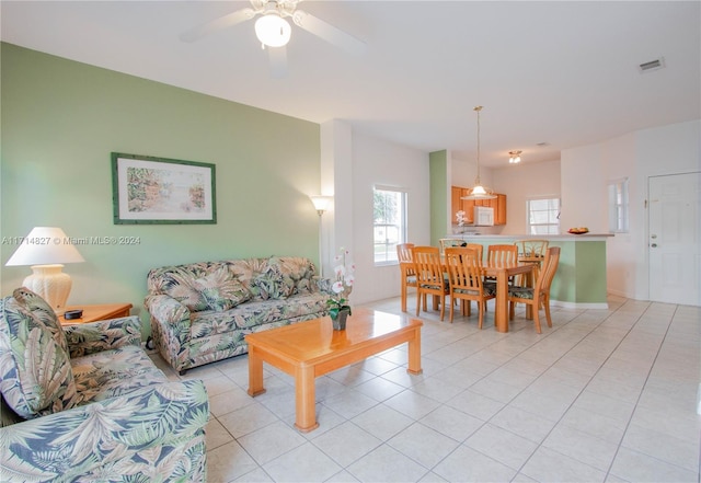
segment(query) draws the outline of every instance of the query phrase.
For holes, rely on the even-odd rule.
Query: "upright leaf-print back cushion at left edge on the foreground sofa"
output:
[[[0,301],[0,392],[24,418],[77,404],[68,354],[14,297]]]

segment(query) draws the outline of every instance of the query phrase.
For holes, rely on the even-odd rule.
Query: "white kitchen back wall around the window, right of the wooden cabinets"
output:
[[[494,188],[506,195],[506,226],[501,234],[524,234],[526,202],[537,197],[560,197],[560,161],[512,164],[493,170]]]

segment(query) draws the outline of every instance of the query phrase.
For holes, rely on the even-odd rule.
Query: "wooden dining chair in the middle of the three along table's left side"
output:
[[[424,301],[426,310],[426,297],[432,295],[440,303],[440,320],[446,312],[446,296],[450,294],[448,280],[444,275],[443,263],[440,261],[440,249],[438,246],[414,246],[412,249],[412,260],[414,272],[416,273],[416,315],[421,301]]]

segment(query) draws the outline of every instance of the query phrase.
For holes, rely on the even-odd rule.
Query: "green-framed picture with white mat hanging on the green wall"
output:
[[[112,153],[115,225],[216,223],[215,165]]]

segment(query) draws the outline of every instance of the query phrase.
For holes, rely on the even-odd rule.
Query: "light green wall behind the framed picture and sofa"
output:
[[[161,265],[243,256],[318,256],[319,125],[1,44],[2,237],[58,226],[69,237],[138,237],[81,245],[67,265],[70,304],[128,301],[141,315]],[[235,92],[237,87],[231,85]],[[113,225],[112,151],[216,164],[216,225]],[[2,296],[28,267],[5,267]]]

